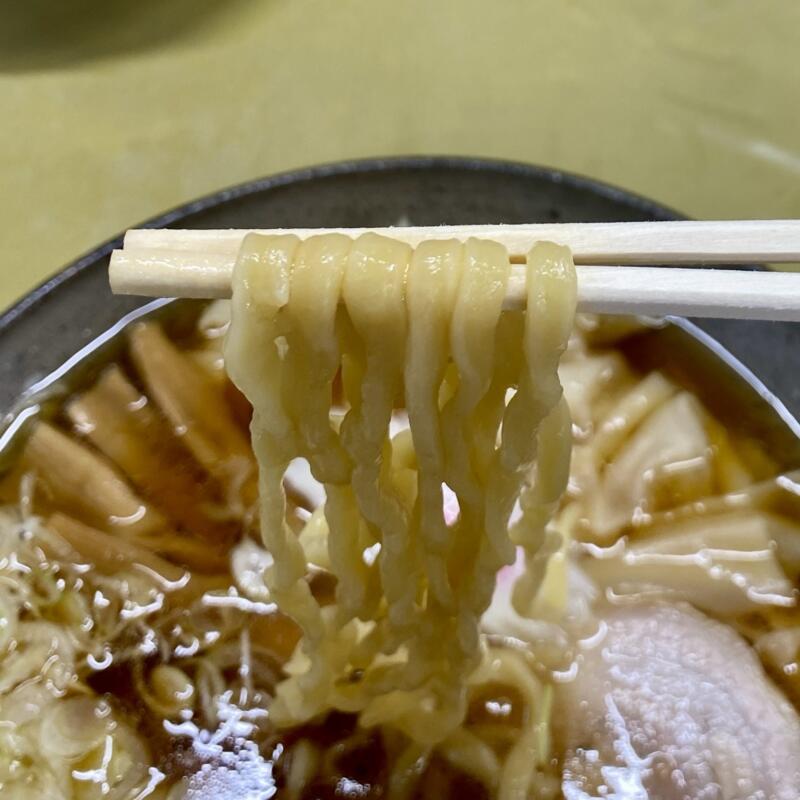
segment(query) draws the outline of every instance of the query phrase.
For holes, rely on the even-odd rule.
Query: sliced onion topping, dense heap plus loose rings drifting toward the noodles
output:
[[[18,508],[0,507],[0,792],[149,796],[165,776],[127,714],[96,695],[92,677],[122,666],[155,718],[213,730],[226,693],[263,705],[279,659],[251,641],[242,611],[212,602],[244,602],[230,592],[170,609],[163,579],[140,565],[106,575],[54,557],[67,542],[31,512],[28,484]]]

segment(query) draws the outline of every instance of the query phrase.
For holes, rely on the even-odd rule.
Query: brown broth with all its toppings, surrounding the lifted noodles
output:
[[[4,798],[587,800],[649,786],[669,799],[684,796],[671,778],[652,781],[676,770],[687,797],[800,796],[800,476],[751,424],[652,369],[630,320],[581,319],[562,358],[562,542],[526,614],[511,602],[522,561],[500,571],[458,730],[424,747],[343,711],[276,728],[268,708],[300,632],[261,578],[271,556],[249,408],[222,363],[227,321],[215,303],[188,335],[136,325],[114,363],[20,434],[0,482]],[[286,482],[325,608],[319,486],[302,465]],[[675,687],[739,705],[658,717],[680,705]],[[535,780],[516,784],[522,773]]]

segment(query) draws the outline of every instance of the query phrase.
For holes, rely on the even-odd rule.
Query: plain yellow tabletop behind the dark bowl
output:
[[[198,195],[361,156],[800,216],[796,0],[25,0],[0,23],[0,308]]]

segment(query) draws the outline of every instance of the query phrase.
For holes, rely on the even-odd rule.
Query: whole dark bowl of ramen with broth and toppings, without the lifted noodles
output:
[[[650,201],[552,170],[414,158],[267,178],[145,224],[342,228],[675,218]],[[792,634],[787,626],[800,576],[800,491],[797,474],[787,474],[800,466],[794,418],[800,399],[786,368],[796,352],[796,327],[579,316],[561,361],[573,449],[569,486],[553,518],[560,535],[549,539],[557,553],[540,576],[536,605],[520,611],[511,591],[526,568],[518,551],[516,562],[497,573],[481,617],[486,664],[517,666],[497,680],[490,672],[479,684],[455,683],[466,733],[483,737],[490,748],[483,752],[494,754],[491,769],[475,774],[473,761],[458,755],[457,739],[442,736],[435,742],[442,749],[431,749],[427,730],[376,730],[347,713],[352,705],[323,705],[283,728],[272,718],[269,699],[285,686],[281,676],[291,680],[288,659],[304,652],[295,649],[297,625],[280,602],[271,602],[263,580],[270,563],[275,572],[281,565],[279,555],[273,561],[261,546],[250,408],[223,369],[229,307],[111,295],[109,254],[120,242],[101,245],[0,317],[0,500],[6,504],[0,506],[0,617],[7,586],[16,603],[9,601],[8,624],[0,628],[18,630],[2,634],[3,646],[12,642],[4,657],[15,661],[4,672],[13,691],[0,710],[4,725],[18,726],[29,761],[41,767],[32,779],[52,772],[68,783],[85,780],[95,774],[91,764],[108,761],[104,742],[113,741],[108,752],[127,765],[117,776],[113,796],[120,798],[143,788],[148,770],[165,781],[154,795],[159,800],[183,797],[182,787],[206,779],[206,794],[198,796],[243,796],[241,781],[254,765],[258,797],[293,786],[297,775],[312,794],[296,796],[340,796],[342,780],[383,796],[394,785],[389,770],[399,770],[392,776],[413,781],[413,772],[423,782],[424,797],[485,798],[499,781],[516,780],[497,759],[516,765],[520,754],[528,758],[524,726],[540,747],[533,777],[545,794],[537,796],[554,797],[560,769],[564,780],[571,771],[594,770],[581,753],[599,752],[594,745],[587,750],[587,742],[602,728],[592,714],[605,712],[591,703],[605,691],[597,681],[611,685],[619,672],[607,674],[605,654],[609,663],[617,653],[637,664],[649,653],[634,683],[645,705],[647,681],[661,686],[666,711],[663,730],[648,730],[663,733],[667,743],[683,741],[684,732],[670,728],[669,704],[689,706],[690,689],[704,698],[712,686],[719,733],[717,711],[739,708],[745,693],[749,722],[725,716],[724,735],[738,741],[744,731],[758,740],[758,758],[748,767],[754,776],[766,774],[761,763],[771,763],[776,785],[800,781],[800,773],[782,774],[796,752],[792,742],[800,745],[800,722],[757,663],[761,658],[797,702],[800,683],[786,671],[796,667],[794,656],[777,646],[787,630]],[[235,347],[226,356],[241,377]],[[336,392],[347,397],[344,384],[337,389],[331,378],[332,402]],[[404,409],[395,410],[393,422],[405,416],[408,424]],[[566,439],[569,419],[560,419]],[[258,421],[257,414],[256,440]],[[398,452],[411,441],[401,435],[392,440]],[[321,608],[337,603],[353,582],[340,579],[327,532],[320,535],[314,522],[325,519],[318,510],[327,514],[325,494],[315,494],[323,487],[304,463],[305,473],[301,465],[284,476],[282,530],[286,523],[303,542],[301,588],[310,588]],[[562,463],[566,481],[566,454]],[[445,519],[446,505],[445,499]],[[370,545],[355,561],[363,557],[371,567],[380,558],[383,569],[378,553]],[[486,573],[489,588],[499,566]],[[643,648],[633,660],[626,655],[631,643]],[[707,674],[697,671],[697,654]],[[25,672],[20,659],[34,672]],[[361,682],[363,673],[353,669],[346,685]],[[81,692],[71,694],[68,680]],[[61,694],[40,691],[51,684]],[[41,714],[31,713],[37,704]],[[411,700],[408,719],[421,706]],[[505,709],[502,720],[497,709]],[[231,720],[247,722],[251,738],[241,744],[231,738]],[[575,720],[577,732],[570,730]],[[759,726],[782,731],[774,747]],[[51,727],[63,735],[43,738]],[[225,758],[209,755],[211,739],[234,749]],[[417,750],[423,740],[424,758]],[[523,749],[509,749],[510,742]],[[616,758],[616,750],[606,749]],[[408,752],[426,766],[402,767]],[[343,753],[346,766],[338,760]],[[296,764],[304,765],[300,772]],[[221,793],[218,779],[227,787]]]

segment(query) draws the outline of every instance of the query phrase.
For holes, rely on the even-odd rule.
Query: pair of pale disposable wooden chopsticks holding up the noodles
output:
[[[661,316],[800,320],[800,274],[698,270],[670,264],[800,261],[800,220],[461,225],[429,228],[260,230],[300,238],[367,230],[416,245],[425,239],[493,239],[515,263],[536,241],[568,245],[578,266],[582,311]],[[250,230],[132,230],[112,254],[114,292],[168,297],[228,297],[239,246]],[[607,266],[613,264],[614,266]],[[588,266],[592,265],[592,266]],[[645,265],[630,266],[623,265]],[[525,301],[515,267],[506,305]]]

